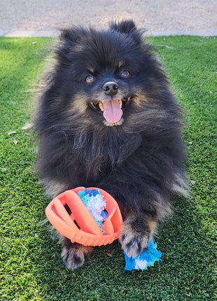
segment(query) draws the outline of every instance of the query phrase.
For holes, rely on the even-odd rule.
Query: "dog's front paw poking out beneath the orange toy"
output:
[[[76,242],[72,243],[66,237],[62,237],[62,260],[68,269],[81,267],[92,252],[91,246],[83,246]]]

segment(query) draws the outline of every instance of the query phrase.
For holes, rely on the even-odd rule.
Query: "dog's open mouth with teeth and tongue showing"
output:
[[[107,123],[118,123],[123,116],[123,110],[129,104],[131,97],[123,99],[105,100],[103,102],[90,102],[90,106],[102,113]]]

